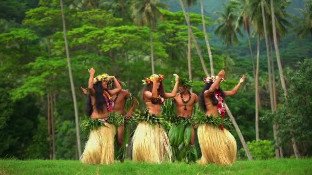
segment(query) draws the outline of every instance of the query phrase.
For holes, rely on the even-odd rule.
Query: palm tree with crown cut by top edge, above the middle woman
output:
[[[163,14],[158,7],[164,9],[168,8],[168,6],[161,3],[160,0],[135,0],[134,4],[131,6],[133,9],[132,17],[134,17],[134,23],[139,26],[147,25],[149,27],[152,74],[155,73],[152,30],[156,28],[158,19],[163,20]]]

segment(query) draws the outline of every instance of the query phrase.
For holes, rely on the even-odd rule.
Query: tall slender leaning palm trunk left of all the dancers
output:
[[[63,33],[64,33],[66,57],[67,57],[67,63],[68,63],[68,73],[69,73],[69,79],[70,79],[72,99],[73,99],[73,103],[74,103],[77,149],[78,149],[79,157],[81,157],[81,142],[80,142],[80,132],[79,132],[78,109],[77,109],[76,94],[75,94],[75,89],[74,89],[74,81],[73,81],[72,74],[71,74],[69,50],[68,50],[67,37],[66,37],[66,26],[65,26],[64,9],[63,9],[63,0],[60,0],[60,3],[61,3],[61,12],[62,12]]]

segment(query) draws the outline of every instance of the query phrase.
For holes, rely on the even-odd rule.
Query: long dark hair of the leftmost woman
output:
[[[103,97],[103,86],[102,82],[99,81],[96,84],[93,85],[94,91],[95,91],[95,108],[96,111],[99,113],[103,113],[103,107],[106,106],[106,100]],[[93,112],[93,107],[91,105],[91,96],[88,95],[87,104],[86,104],[86,115],[91,116]]]

